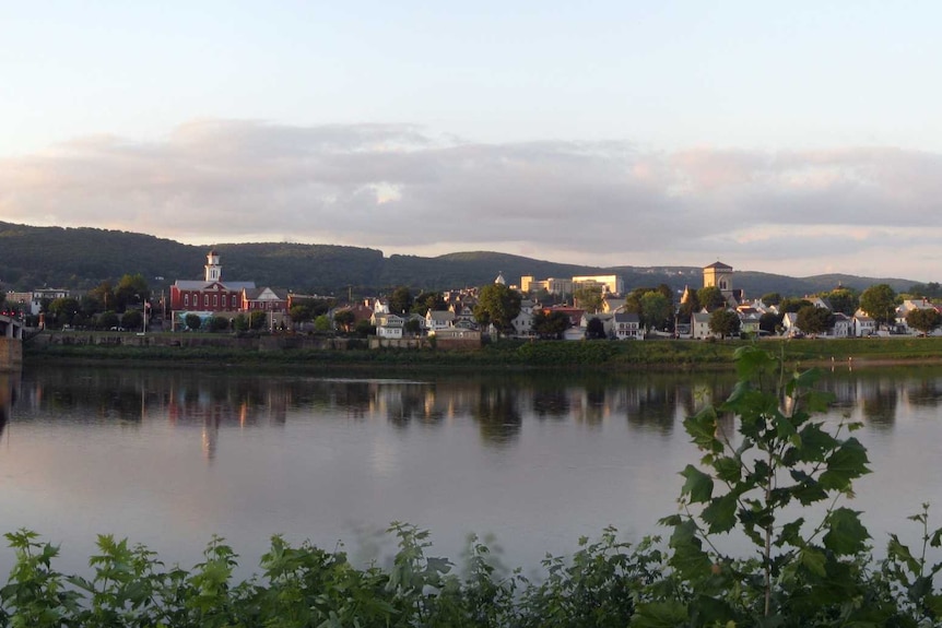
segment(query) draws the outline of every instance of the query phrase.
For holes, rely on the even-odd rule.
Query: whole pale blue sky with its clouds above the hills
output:
[[[940,23],[937,1],[0,0],[0,221],[942,281]]]

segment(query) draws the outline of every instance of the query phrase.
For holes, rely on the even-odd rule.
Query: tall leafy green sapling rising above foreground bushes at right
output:
[[[863,446],[840,437],[860,425],[832,435],[812,420],[832,401],[813,388],[819,371],[786,378],[781,362],[755,346],[735,359],[729,399],[684,422],[704,455],[681,472],[681,513],[661,521],[673,528],[668,562],[680,592],[666,604],[692,625],[885,619],[881,601],[860,603],[870,592],[861,583],[870,535],[858,511],[838,506],[869,473]],[[721,550],[727,534],[752,556]],[[657,625],[650,618],[643,606],[635,625]]]

